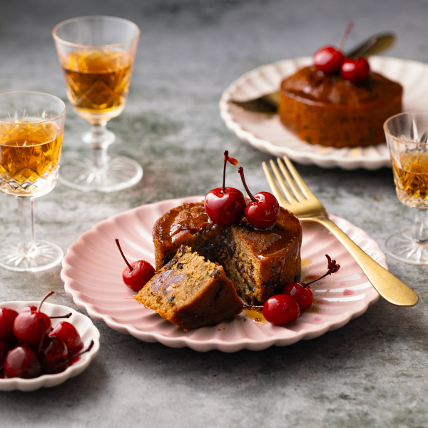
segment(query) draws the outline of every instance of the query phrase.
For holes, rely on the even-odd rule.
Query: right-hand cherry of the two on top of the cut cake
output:
[[[254,196],[250,193],[247,183],[245,183],[244,168],[240,166],[238,168],[241,180],[245,190],[247,190],[248,196],[251,202],[245,207],[244,213],[245,218],[258,229],[270,228],[275,224],[278,216],[280,215],[280,204],[272,193],[259,192]]]

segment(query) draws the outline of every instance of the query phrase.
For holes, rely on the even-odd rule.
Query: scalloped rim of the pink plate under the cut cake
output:
[[[347,324],[352,318],[358,317],[362,315],[367,308],[374,304],[379,299],[379,294],[374,290],[373,297],[367,300],[362,300],[361,302],[357,303],[355,305],[355,310],[352,312],[345,312],[344,314],[337,315],[337,320],[335,322],[329,322],[326,320],[325,322],[320,323],[318,325],[318,328],[316,331],[310,331],[307,329],[303,329],[299,332],[299,334],[292,337],[292,341],[290,341],[290,338],[284,338],[284,337],[267,337],[264,340],[253,340],[249,338],[241,339],[241,340],[235,340],[233,342],[228,342],[225,340],[218,340],[215,339],[209,339],[209,340],[193,340],[190,337],[186,336],[180,336],[180,337],[167,337],[164,335],[158,334],[158,332],[153,331],[145,331],[142,332],[141,330],[137,330],[132,325],[123,324],[121,322],[116,322],[113,320],[111,315],[107,315],[101,312],[98,312],[97,310],[94,310],[93,304],[85,302],[81,300],[79,295],[81,294],[78,292],[78,290],[73,289],[73,282],[77,282],[72,277],[69,277],[67,275],[68,269],[73,269],[72,266],[68,265],[68,257],[73,253],[75,248],[78,248],[79,245],[81,245],[81,242],[85,240],[85,238],[90,235],[91,233],[95,232],[95,229],[98,228],[100,225],[111,223],[116,221],[118,217],[121,217],[123,215],[129,215],[133,212],[136,212],[141,209],[147,209],[148,206],[156,207],[157,205],[161,205],[163,203],[171,204],[171,206],[177,206],[181,203],[185,202],[195,202],[198,200],[202,200],[203,196],[190,196],[185,198],[174,198],[174,199],[168,199],[168,200],[160,200],[156,203],[151,204],[144,204],[140,205],[136,208],[131,208],[130,210],[123,211],[122,213],[118,213],[116,215],[113,215],[110,218],[106,218],[105,220],[101,220],[101,222],[98,222],[96,225],[93,225],[93,227],[86,232],[82,233],[78,239],[70,246],[68,249],[68,253],[63,258],[62,262],[62,269],[61,269],[61,280],[64,282],[64,290],[66,293],[73,298],[73,301],[76,303],[78,307],[81,307],[82,309],[86,310],[88,312],[88,315],[90,315],[92,318],[96,320],[101,320],[108,325],[108,327],[111,327],[113,330],[116,330],[118,332],[122,332],[124,334],[132,335],[133,337],[136,337],[139,340],[143,340],[145,342],[161,342],[163,345],[166,345],[168,347],[185,347],[188,346],[192,348],[193,350],[199,351],[199,352],[206,352],[209,350],[220,350],[223,352],[237,352],[238,350],[242,349],[249,349],[249,350],[263,350],[267,347],[270,347],[272,345],[292,345],[292,343],[298,342],[302,339],[312,339],[315,337],[318,337],[320,335],[323,335],[325,332],[330,330],[335,330],[339,327],[342,327],[343,325]],[[342,223],[342,225],[347,225],[347,227],[354,228],[358,231],[358,237],[359,240],[365,240],[365,242],[370,243],[370,250],[374,250],[377,253],[377,257],[374,258],[374,260],[377,260],[377,262],[381,265],[383,265],[385,268],[387,268],[386,263],[386,256],[380,250],[379,245],[375,240],[370,238],[367,233],[365,233],[364,230],[358,228],[357,226],[350,223],[348,220],[345,220],[343,218],[337,217],[335,215],[329,215],[332,220],[335,222]],[[368,244],[367,244],[368,245]],[[364,275],[364,273],[362,273]],[[367,280],[368,282],[368,280]],[[287,341],[286,344],[282,344],[281,342]]]

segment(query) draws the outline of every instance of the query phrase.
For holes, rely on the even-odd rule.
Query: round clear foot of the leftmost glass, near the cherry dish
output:
[[[0,248],[0,267],[14,272],[40,272],[61,263],[64,253],[58,245],[39,241],[24,251],[20,243]]]

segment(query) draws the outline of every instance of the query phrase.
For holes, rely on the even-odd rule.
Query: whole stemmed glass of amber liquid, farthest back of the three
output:
[[[82,140],[92,158],[63,159],[61,183],[83,191],[113,192],[143,176],[132,159],[107,155],[116,136],[106,123],[125,108],[138,36],[136,24],[111,16],[68,19],[52,31],[66,81],[68,100],[91,128]]]

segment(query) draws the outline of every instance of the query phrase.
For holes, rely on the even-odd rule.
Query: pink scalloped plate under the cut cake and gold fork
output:
[[[116,247],[119,238],[130,260],[144,259],[154,264],[152,229],[155,221],[171,208],[202,196],[163,200],[142,205],[103,220],[83,233],[63,259],[61,278],[68,295],[91,317],[103,320],[118,332],[145,342],[161,342],[169,347],[188,346],[205,352],[242,349],[264,350],[272,345],[292,345],[313,339],[347,324],[362,315],[378,299],[367,277],[334,235],[317,223],[302,223],[302,280],[322,275],[327,269],[325,254],[341,267],[336,274],[312,285],[315,304],[292,325],[262,325],[241,313],[215,327],[183,331],[153,310],[138,305],[135,294],[122,282],[123,259]],[[343,218],[330,218],[374,260],[386,266],[384,253],[367,233]],[[316,276],[315,276],[316,277]]]

